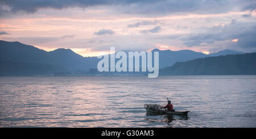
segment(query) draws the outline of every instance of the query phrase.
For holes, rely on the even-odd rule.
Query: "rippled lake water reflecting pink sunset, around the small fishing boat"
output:
[[[145,103],[188,116],[148,115]],[[0,127],[256,127],[256,76],[0,77]]]

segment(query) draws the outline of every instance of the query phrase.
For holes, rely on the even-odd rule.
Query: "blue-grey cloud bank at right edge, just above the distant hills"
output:
[[[256,48],[256,24],[232,20],[225,26],[214,26],[205,33],[191,33],[180,37],[187,47],[200,46],[201,43],[212,44],[216,41],[238,39],[237,45],[242,48]]]

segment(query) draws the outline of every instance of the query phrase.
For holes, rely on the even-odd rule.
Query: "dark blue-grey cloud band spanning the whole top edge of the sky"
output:
[[[236,3],[238,3],[236,5]],[[252,4],[251,4],[252,3]],[[0,7],[2,12],[25,11],[33,13],[39,9],[64,9],[68,7],[91,7],[91,6],[116,6],[109,7],[113,10],[126,14],[159,15],[170,14],[173,12],[226,12],[236,6],[243,6],[241,10],[255,10],[255,2],[239,0],[0,0],[2,7],[9,7],[5,10]]]

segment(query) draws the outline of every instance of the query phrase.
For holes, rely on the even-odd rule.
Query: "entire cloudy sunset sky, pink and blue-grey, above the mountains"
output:
[[[256,1],[0,0],[0,40],[82,56],[116,50],[256,52]]]

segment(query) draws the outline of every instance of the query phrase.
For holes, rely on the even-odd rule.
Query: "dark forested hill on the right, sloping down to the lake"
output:
[[[256,75],[256,53],[230,54],[176,62],[160,75]]]

